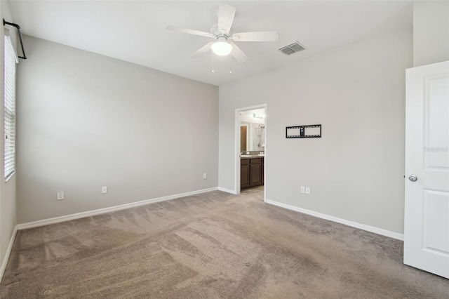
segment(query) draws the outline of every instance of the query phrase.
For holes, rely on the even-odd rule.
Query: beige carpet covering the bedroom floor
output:
[[[19,231],[1,298],[449,298],[401,241],[208,192]]]

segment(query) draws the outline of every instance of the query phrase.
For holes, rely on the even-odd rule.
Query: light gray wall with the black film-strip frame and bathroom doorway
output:
[[[235,109],[267,103],[267,199],[403,233],[412,34],[389,29],[220,86],[219,187],[235,190]],[[286,126],[307,124],[322,124],[322,138],[285,138]]]

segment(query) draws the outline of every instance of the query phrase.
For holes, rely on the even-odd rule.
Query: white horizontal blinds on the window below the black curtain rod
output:
[[[18,57],[15,53],[13,41],[5,30],[5,62],[4,62],[4,134],[5,134],[5,178],[15,171],[15,64]]]

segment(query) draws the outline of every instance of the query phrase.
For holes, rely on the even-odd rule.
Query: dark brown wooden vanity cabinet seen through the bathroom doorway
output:
[[[264,158],[240,160],[240,190],[263,185]]]

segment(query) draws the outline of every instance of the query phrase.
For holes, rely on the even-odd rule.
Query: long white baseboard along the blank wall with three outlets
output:
[[[180,197],[188,197],[190,195],[215,191],[217,189],[218,189],[218,187],[213,187],[213,188],[208,188],[208,189],[203,189],[203,190],[196,190],[196,191],[192,191],[192,192],[185,192],[185,193],[180,193],[180,194],[169,195],[167,197],[158,197],[156,199],[147,199],[144,201],[137,201],[137,202],[133,202],[130,204],[121,204],[119,206],[111,206],[109,208],[99,208],[98,210],[93,210],[93,211],[86,211],[86,212],[70,214],[70,215],[65,215],[65,216],[60,216],[60,217],[55,217],[55,218],[37,220],[34,222],[22,223],[20,225],[17,225],[17,228],[18,228],[18,230],[25,230],[27,228],[39,227],[39,226],[43,226],[43,225],[50,225],[53,223],[65,222],[65,221],[69,221],[69,220],[75,220],[75,219],[79,219],[79,218],[91,217],[91,216],[110,213],[110,212],[114,212],[114,211],[120,211],[120,210],[124,210],[126,208],[134,208],[135,206],[145,206],[145,204],[152,204],[152,203],[159,202],[159,201],[167,201],[170,199],[177,199]]]

